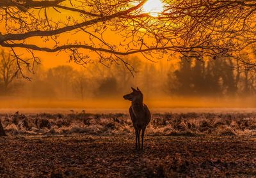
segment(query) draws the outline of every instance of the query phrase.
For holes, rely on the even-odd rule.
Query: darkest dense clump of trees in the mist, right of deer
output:
[[[237,94],[237,81],[232,61],[226,58],[206,62],[203,59],[182,57],[179,69],[173,73],[178,83],[173,91],[177,94],[194,96]]]

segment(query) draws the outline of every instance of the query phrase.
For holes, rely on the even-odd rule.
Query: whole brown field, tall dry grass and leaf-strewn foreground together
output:
[[[127,113],[1,114],[0,177],[253,177],[256,112],[152,114],[145,151]]]

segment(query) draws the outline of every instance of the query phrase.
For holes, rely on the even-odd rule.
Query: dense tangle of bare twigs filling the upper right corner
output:
[[[255,10],[253,0],[184,0],[168,5],[165,15],[188,22],[177,36],[189,43],[189,47],[201,43],[211,49],[212,56],[234,57],[248,70],[255,69],[254,57],[245,59],[239,54],[255,52]]]

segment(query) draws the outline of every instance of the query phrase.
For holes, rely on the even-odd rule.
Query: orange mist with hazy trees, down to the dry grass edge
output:
[[[139,87],[152,108],[256,107],[254,71],[234,68],[234,59],[176,57],[154,63],[129,57],[124,61],[131,66],[116,62],[85,67],[39,65],[35,74],[24,73],[31,81],[9,74],[12,80],[0,78],[0,107],[127,108],[130,103],[122,96],[131,87]],[[10,66],[13,73],[15,65]]]

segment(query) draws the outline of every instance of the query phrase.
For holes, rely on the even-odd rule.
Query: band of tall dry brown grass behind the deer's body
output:
[[[129,115],[117,114],[4,114],[8,135],[133,134]],[[147,135],[196,137],[256,136],[256,113],[153,114]]]

